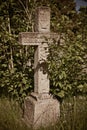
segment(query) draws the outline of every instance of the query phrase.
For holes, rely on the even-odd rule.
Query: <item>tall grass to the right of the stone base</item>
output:
[[[58,130],[87,130],[87,97],[73,97],[61,105],[62,125]]]

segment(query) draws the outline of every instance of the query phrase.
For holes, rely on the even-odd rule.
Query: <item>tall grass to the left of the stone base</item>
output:
[[[0,99],[0,130],[29,130],[22,121],[22,111],[16,101]]]

